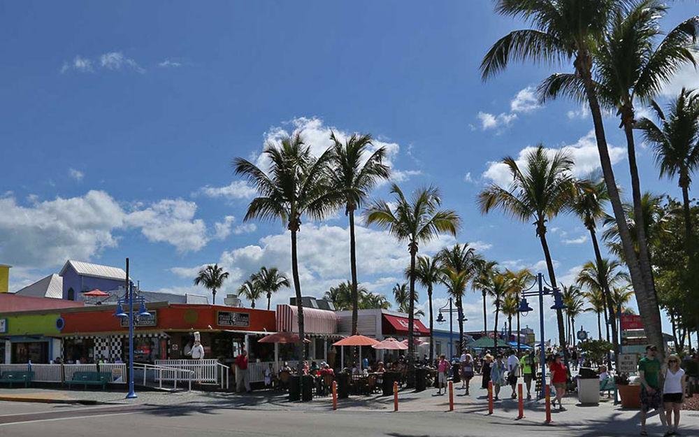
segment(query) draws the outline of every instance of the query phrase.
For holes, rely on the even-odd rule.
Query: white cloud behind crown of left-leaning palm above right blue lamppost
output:
[[[520,168],[525,164],[526,155],[535,149],[536,148],[533,146],[528,146],[519,151],[516,161]],[[560,149],[568,152],[568,155],[575,163],[572,170],[572,174],[575,176],[583,176],[600,168],[600,158],[594,131],[590,131],[589,134],[580,138],[576,143],[564,145]],[[560,149],[546,148],[546,151],[549,155],[553,156]],[[624,148],[614,147],[614,145],[611,144],[609,145],[609,152],[612,164],[617,164],[625,155]],[[510,170],[507,165],[503,164],[503,162],[491,161],[488,162],[487,166],[488,168],[483,173],[484,178],[491,180],[501,187],[508,187],[510,185],[512,176],[510,175]]]

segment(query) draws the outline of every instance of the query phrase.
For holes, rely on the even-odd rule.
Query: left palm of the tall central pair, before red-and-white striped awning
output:
[[[319,157],[313,157],[310,148],[301,141],[298,134],[294,138],[283,138],[279,147],[266,145],[262,153],[270,162],[267,172],[247,159],[233,160],[236,174],[245,176],[259,194],[247,207],[244,220],[281,220],[291,232],[291,276],[296,292],[298,338],[305,338],[296,234],[301,229],[301,217],[308,215],[320,220],[339,205],[337,194],[329,189],[326,180],[333,153],[329,149]],[[296,348],[301,372],[301,363],[306,358],[303,342],[298,341]]]

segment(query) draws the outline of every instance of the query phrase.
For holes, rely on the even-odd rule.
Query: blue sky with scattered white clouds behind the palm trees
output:
[[[265,141],[294,129],[315,148],[330,129],[373,134],[403,189],[436,185],[463,217],[456,239],[424,253],[470,242],[513,268],[540,269],[543,257],[531,225],[475,207],[477,192],[503,178],[493,163],[539,142],[571,146],[579,173],[598,159],[581,107],[532,99],[552,70],[513,66],[482,82],[486,50],[521,27],[488,1],[24,1],[0,10],[0,262],[15,266],[14,289],[69,257],[130,257],[143,288],[178,292],[203,293],[192,275],[212,262],[231,271],[229,291],[262,264],[289,271],[280,224],[242,222],[251,192],[230,162],[256,159]],[[696,3],[673,2],[663,24],[691,13]],[[682,71],[665,94],[682,85],[699,87],[697,73]],[[617,126],[607,120],[617,178],[628,185]],[[650,150],[638,152],[643,189],[679,195],[675,181],[658,180]],[[340,214],[303,224],[304,294],[349,275],[346,228]],[[593,255],[585,235],[573,217],[549,224],[564,283]],[[358,238],[360,280],[390,296],[405,248],[377,229]],[[435,296],[445,303],[442,289]],[[479,329],[480,297],[466,301],[466,328]],[[596,334],[593,316],[581,322]],[[550,333],[554,324],[547,315]]]

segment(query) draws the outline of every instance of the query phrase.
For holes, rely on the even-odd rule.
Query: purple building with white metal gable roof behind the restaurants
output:
[[[102,266],[69,259],[61,269],[63,299],[83,301],[82,293],[101,289],[103,292],[124,287],[127,273],[118,267]]]

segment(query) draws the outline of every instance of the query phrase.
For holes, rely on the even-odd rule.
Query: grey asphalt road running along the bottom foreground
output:
[[[56,408],[0,404],[0,436],[630,436],[637,428],[593,423],[556,427],[466,413],[385,411],[236,410],[187,406],[78,406]],[[10,410],[13,413],[8,413]],[[617,425],[617,426],[613,426]],[[657,431],[659,429],[649,429]],[[689,434],[684,434],[689,435]]]

